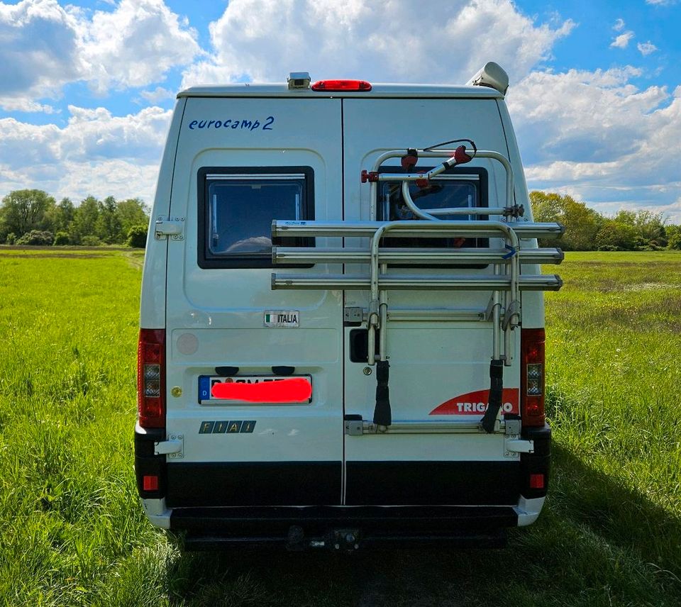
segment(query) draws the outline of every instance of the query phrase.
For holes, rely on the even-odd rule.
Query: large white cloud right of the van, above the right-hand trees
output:
[[[681,221],[681,87],[640,90],[632,67],[534,72],[509,91],[531,188],[567,191],[599,208],[666,211]],[[619,207],[617,207],[619,208]],[[615,208],[616,210],[616,208]]]

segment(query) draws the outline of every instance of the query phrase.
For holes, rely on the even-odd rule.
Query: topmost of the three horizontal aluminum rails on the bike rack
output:
[[[454,220],[453,220],[454,221]],[[355,236],[358,238],[371,238],[378,228],[385,225],[385,221],[282,221],[275,219],[272,221],[272,237],[280,238],[314,238],[315,236]],[[402,221],[409,228],[404,228],[399,233],[391,235],[391,238],[414,238],[419,236],[441,236],[447,237],[451,235],[451,228],[448,230],[443,228],[442,233],[433,233],[433,228],[423,230],[421,226],[426,221]],[[433,223],[427,221],[427,223]],[[438,220],[438,225],[443,225],[447,222]],[[470,221],[460,221],[462,223],[473,223]],[[479,230],[473,233],[468,233],[468,236],[476,236],[478,238],[499,238],[499,231],[491,228],[490,225],[494,222],[480,221],[475,222],[482,225]],[[496,222],[504,223],[511,228],[518,238],[524,240],[526,238],[557,238],[565,232],[565,226],[560,223],[533,223],[531,221],[513,221],[513,222]],[[485,229],[487,226],[488,229]]]

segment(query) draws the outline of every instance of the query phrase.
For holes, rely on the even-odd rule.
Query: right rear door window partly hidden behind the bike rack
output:
[[[431,167],[419,167],[427,171]],[[399,167],[382,167],[381,172],[398,173]],[[409,194],[414,204],[423,211],[431,212],[443,208],[470,208],[470,215],[444,214],[443,220],[482,220],[486,215],[477,215],[475,208],[488,206],[487,170],[482,168],[449,169],[419,187],[409,184]],[[380,221],[409,221],[419,219],[402,199],[402,182],[380,182],[378,187],[378,219]],[[388,247],[486,247],[487,238],[386,238]]]

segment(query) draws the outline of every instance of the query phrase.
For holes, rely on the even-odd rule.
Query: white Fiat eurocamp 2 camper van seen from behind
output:
[[[187,547],[497,545],[548,486],[536,238],[489,63],[466,86],[182,91],[143,273],[135,470]]]

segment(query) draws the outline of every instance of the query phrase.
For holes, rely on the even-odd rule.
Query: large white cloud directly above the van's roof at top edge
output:
[[[414,7],[409,0],[231,0],[211,23],[213,54],[187,69],[183,86],[285,82],[301,69],[313,78],[463,83],[489,60],[515,82],[575,26],[569,19],[536,25],[511,0],[469,0],[428,5],[416,28]]]

